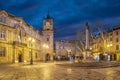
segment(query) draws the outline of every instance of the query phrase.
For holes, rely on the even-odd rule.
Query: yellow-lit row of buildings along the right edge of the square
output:
[[[95,58],[101,60],[120,60],[120,26],[91,40],[91,49]]]

